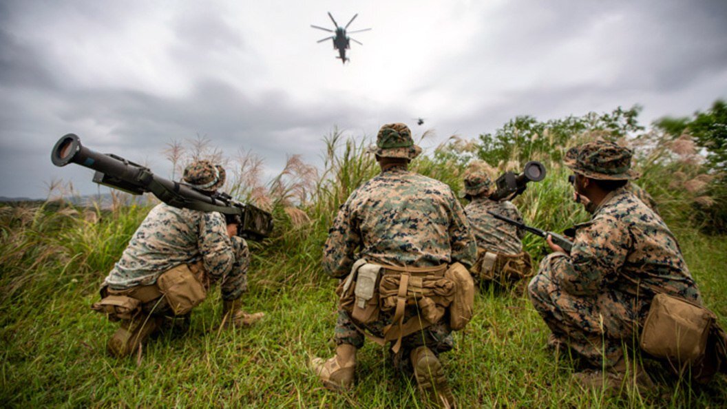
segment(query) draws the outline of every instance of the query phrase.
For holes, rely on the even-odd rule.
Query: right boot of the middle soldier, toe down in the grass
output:
[[[410,358],[419,392],[427,405],[434,408],[454,408],[454,395],[447,384],[442,363],[434,352],[426,346],[419,346],[411,351]]]

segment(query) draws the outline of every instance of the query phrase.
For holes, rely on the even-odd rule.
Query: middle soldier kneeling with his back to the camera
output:
[[[438,355],[472,315],[475,241],[451,188],[408,170],[420,152],[405,124],[379,130],[381,173],[348,197],[326,240],[324,269],[341,279],[337,347],[311,367],[327,388],[349,389],[364,339],[393,344],[394,364],[413,371],[427,402],[451,408]]]

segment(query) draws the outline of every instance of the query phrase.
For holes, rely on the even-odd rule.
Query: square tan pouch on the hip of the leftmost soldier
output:
[[[156,279],[159,290],[174,315],[184,315],[198,306],[207,296],[201,282],[187,264],[180,264],[165,271]]]

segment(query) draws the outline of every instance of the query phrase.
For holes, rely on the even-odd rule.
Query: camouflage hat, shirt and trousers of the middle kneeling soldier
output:
[[[406,128],[403,124],[396,126]],[[411,140],[411,134],[405,134],[409,128],[404,131],[392,124],[382,130],[387,127],[399,129]],[[379,151],[393,146],[387,148],[386,156],[411,159],[419,154],[417,146],[396,147],[401,146],[401,141],[395,140],[400,136],[393,132],[393,140],[384,138],[382,142],[379,132]],[[462,205],[449,186],[395,166],[364,183],[342,205],[324,246],[323,266],[337,278],[348,275],[359,258],[390,266],[430,267],[459,261],[469,267],[475,261],[475,252]],[[413,314],[417,314],[416,309],[407,308],[404,319]],[[393,311],[382,311],[379,320],[365,328],[381,337],[392,315]],[[426,345],[437,354],[449,351],[450,332],[447,322],[441,320],[404,337],[401,350],[394,356],[395,364],[406,367],[409,352],[417,346]],[[364,333],[342,308],[338,311],[335,340],[338,345],[364,345]]]

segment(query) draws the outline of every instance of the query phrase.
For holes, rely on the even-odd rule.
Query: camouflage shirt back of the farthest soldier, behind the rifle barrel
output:
[[[507,201],[496,202],[483,196],[473,198],[472,202],[465,206],[465,214],[478,249],[492,253],[521,253],[523,251],[521,240],[525,237],[525,231],[510,223],[499,221],[487,212],[497,213],[515,221],[523,221],[515,204]]]

